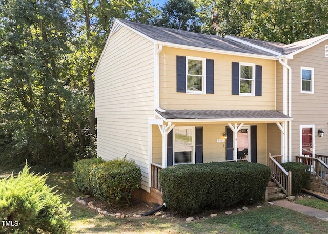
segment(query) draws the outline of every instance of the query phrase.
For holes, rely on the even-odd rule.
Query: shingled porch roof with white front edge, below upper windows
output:
[[[282,122],[293,118],[274,110],[166,110],[157,115],[166,122]]]

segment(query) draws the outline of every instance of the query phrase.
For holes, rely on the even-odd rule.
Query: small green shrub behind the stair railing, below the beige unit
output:
[[[310,166],[301,162],[285,162],[281,166],[292,172],[292,194],[298,194],[310,181]]]

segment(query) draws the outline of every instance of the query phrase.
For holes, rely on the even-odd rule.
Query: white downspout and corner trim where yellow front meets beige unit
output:
[[[287,65],[287,59],[284,59],[285,61],[282,61],[282,58],[279,58],[279,63],[288,70],[288,116],[292,117],[292,68],[290,66]],[[285,73],[284,73],[284,77],[285,77]],[[286,81],[284,79],[283,81],[283,89],[285,92],[285,87],[286,87]],[[285,93],[284,93],[285,95]],[[283,109],[284,109],[284,113],[283,114],[287,114],[285,111],[285,106],[287,106],[286,102],[287,102],[287,97],[283,97]],[[292,124],[291,124],[291,120],[288,123],[288,161],[291,162],[292,161]]]

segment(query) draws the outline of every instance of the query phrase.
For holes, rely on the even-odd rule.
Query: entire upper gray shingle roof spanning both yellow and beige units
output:
[[[118,21],[159,42],[276,57],[276,55],[268,51],[261,50],[259,48],[255,48],[249,45],[244,45],[240,42],[236,42],[232,39],[224,38],[221,36],[188,32],[178,29],[142,24],[123,19],[118,19]],[[288,55],[299,49],[309,46],[324,37],[328,38],[328,34],[317,36],[307,40],[298,41],[292,44],[282,44],[278,42],[256,40],[245,37],[235,38],[250,42],[262,48],[273,50],[283,55]]]

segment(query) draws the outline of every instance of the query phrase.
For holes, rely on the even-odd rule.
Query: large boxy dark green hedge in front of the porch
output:
[[[247,162],[212,162],[167,167],[159,173],[163,201],[183,214],[219,209],[263,198],[268,166]]]

